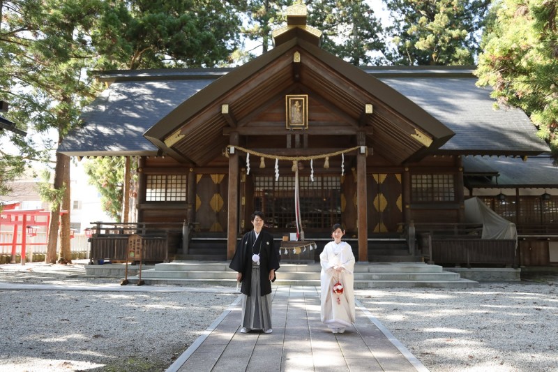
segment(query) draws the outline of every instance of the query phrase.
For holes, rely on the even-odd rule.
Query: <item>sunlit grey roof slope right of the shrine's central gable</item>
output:
[[[416,71],[416,70],[415,70]],[[525,112],[495,109],[489,88],[475,86],[474,77],[379,77],[455,135],[439,149],[458,154],[537,154],[548,146],[536,136]]]

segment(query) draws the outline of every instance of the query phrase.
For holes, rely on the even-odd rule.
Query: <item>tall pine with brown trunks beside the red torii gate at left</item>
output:
[[[47,150],[56,149],[68,131],[79,125],[77,114],[93,95],[84,68],[90,67],[93,60],[88,31],[96,22],[100,2],[28,0],[3,5],[3,94],[12,96],[10,103],[17,112],[17,121],[31,126],[39,135],[56,133],[55,143],[43,144]],[[33,142],[20,145],[34,146]],[[43,190],[44,195],[56,195],[50,200],[46,261],[51,263],[56,262],[59,223],[61,258],[71,261],[69,210],[60,213],[61,208],[70,206],[69,179],[69,158],[56,154],[53,190]]]

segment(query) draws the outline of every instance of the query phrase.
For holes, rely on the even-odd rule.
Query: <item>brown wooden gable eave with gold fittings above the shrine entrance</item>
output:
[[[300,62],[293,61],[295,52],[300,53]],[[295,37],[220,77],[176,107],[144,137],[181,162],[206,165],[229,144],[230,133],[286,135],[284,117],[277,126],[264,131],[250,121],[292,92],[309,94],[329,105],[343,118],[339,131],[365,133],[366,145],[394,164],[425,156],[453,136],[451,130],[395,89]],[[222,114],[224,104],[234,115],[236,126]],[[372,104],[373,114],[363,119],[367,104]],[[308,126],[305,132],[311,135],[334,129],[312,121]]]

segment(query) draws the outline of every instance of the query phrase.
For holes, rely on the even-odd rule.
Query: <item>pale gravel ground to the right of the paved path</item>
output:
[[[558,281],[358,291],[432,372],[558,371]]]

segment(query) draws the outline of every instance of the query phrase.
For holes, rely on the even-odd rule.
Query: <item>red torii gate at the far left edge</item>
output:
[[[68,211],[60,211],[60,215],[67,214]],[[45,220],[46,217],[46,220]],[[46,245],[48,243],[27,243],[27,227],[33,228],[45,227],[48,236],[50,226],[50,211],[45,209],[20,209],[20,210],[3,210],[0,212],[0,228],[2,225],[13,226],[13,238],[11,243],[0,243],[0,246],[12,246],[12,257],[10,263],[15,263],[16,247],[22,246],[21,264],[25,265],[25,256],[27,245]],[[17,230],[21,227],[22,241],[17,243]]]

